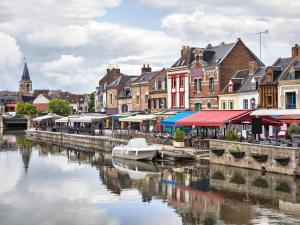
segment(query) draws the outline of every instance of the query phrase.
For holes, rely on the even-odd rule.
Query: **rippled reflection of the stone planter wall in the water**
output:
[[[213,188],[265,199],[300,203],[300,184],[292,176],[210,164],[210,184]]]

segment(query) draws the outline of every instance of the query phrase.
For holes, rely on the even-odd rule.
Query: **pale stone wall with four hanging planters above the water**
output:
[[[270,146],[260,144],[250,144],[244,142],[233,142],[224,140],[210,140],[210,148],[224,149],[224,154],[218,156],[212,151],[210,152],[210,162],[228,166],[236,166],[241,168],[263,170],[281,174],[295,175],[299,168],[299,148]],[[245,156],[241,159],[235,158],[230,151],[239,150],[245,152]],[[256,161],[251,154],[266,154],[268,158],[265,162]],[[276,157],[289,157],[290,161],[287,165],[279,164]]]

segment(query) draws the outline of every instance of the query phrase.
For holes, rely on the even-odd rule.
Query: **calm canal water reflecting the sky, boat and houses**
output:
[[[300,224],[300,180],[0,136],[0,225]]]

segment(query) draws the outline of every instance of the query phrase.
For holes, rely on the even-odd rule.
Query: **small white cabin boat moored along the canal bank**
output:
[[[159,150],[161,147],[148,145],[145,138],[134,138],[127,145],[115,146],[112,156],[132,160],[153,160]]]

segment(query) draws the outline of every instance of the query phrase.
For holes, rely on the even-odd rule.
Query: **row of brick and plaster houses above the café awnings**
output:
[[[300,46],[266,66],[244,43],[183,46],[170,68],[139,75],[107,69],[96,88],[95,109],[108,115],[163,109],[300,108]]]

